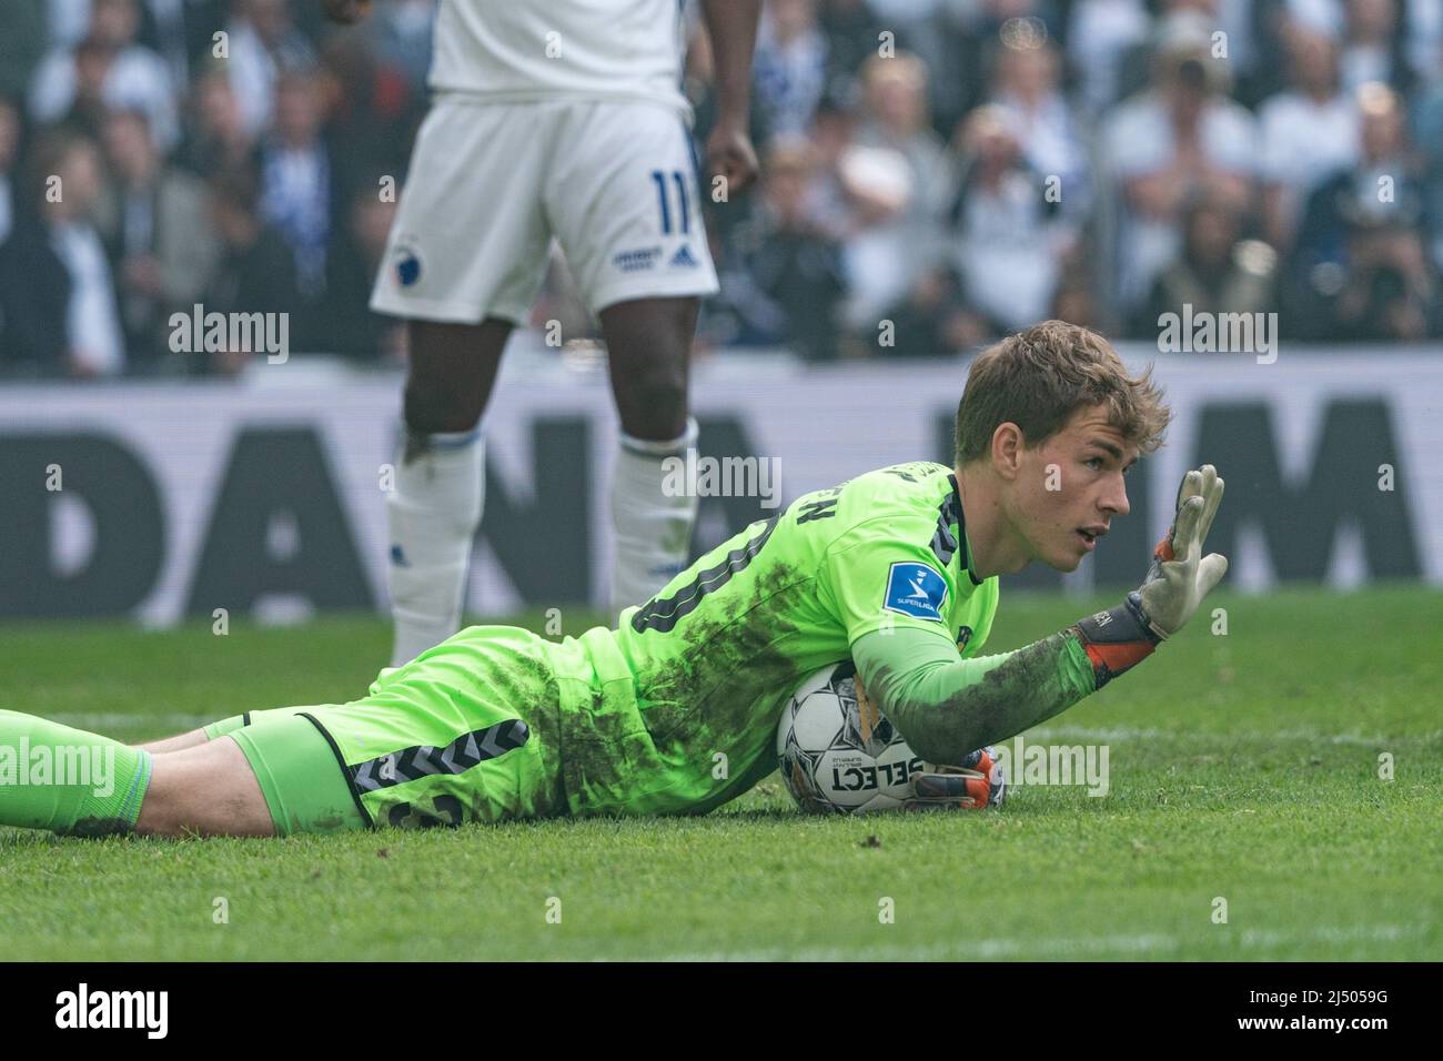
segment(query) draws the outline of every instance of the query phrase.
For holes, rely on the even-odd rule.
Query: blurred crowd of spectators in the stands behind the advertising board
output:
[[[401,362],[365,306],[431,19],[4,0],[0,374],[235,371],[170,349],[196,303]],[[707,348],[951,355],[1048,316],[1152,341],[1185,303],[1297,341],[1443,333],[1443,0],[768,0],[753,139],[759,185],[710,208]],[[592,328],[560,261],[548,319]]]

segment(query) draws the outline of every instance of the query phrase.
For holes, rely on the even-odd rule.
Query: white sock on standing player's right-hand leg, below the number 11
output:
[[[694,476],[667,476],[667,458],[687,465],[687,449],[697,445],[697,422],[687,417],[687,433],[670,442],[646,442],[626,433],[612,475],[612,523],[616,562],[612,566],[612,618],[639,605],[687,566],[691,527],[697,521]],[[665,486],[683,485],[668,491]]]

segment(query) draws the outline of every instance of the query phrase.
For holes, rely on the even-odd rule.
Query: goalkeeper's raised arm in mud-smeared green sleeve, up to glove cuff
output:
[[[948,638],[900,628],[859,638],[851,657],[867,696],[912,751],[952,764],[1065,712],[1156,644],[1130,602],[1000,655],[958,660]]]

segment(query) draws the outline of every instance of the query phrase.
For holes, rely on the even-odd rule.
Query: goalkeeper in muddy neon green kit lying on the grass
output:
[[[0,824],[287,836],[698,814],[775,768],[791,690],[848,655],[918,756],[961,762],[1141,663],[1227,570],[1202,556],[1222,499],[1205,466],[1185,476],[1139,590],[1033,645],[977,655],[999,575],[1033,562],[1071,572],[1127,514],[1123,476],[1169,419],[1149,375],[1130,378],[1105,341],[1071,325],[1004,339],[968,374],[955,469],[898,465],[807,494],[615,631],[553,642],[472,626],[381,671],[359,700],[250,712],[140,748],[0,712]],[[714,771],[719,752],[727,771]],[[102,787],[63,775],[78,755],[113,762]],[[922,777],[945,793],[948,775]],[[977,803],[965,778],[951,781],[954,805]]]

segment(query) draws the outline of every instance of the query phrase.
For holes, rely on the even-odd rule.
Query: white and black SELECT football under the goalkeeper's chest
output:
[[[848,660],[807,678],[782,712],[776,756],[786,790],[804,811],[857,814],[900,810],[922,759],[864,696]]]

